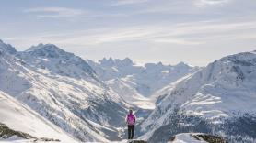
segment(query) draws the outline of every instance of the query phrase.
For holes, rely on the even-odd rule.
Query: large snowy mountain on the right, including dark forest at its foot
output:
[[[210,132],[231,142],[253,142],[255,82],[255,51],[215,60],[162,90],[156,109],[141,125],[143,137],[160,142],[170,134]]]

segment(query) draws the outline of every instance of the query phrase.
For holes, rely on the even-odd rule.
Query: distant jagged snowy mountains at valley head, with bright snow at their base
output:
[[[161,62],[137,65],[129,58],[87,61],[96,71],[99,79],[110,86],[114,92],[119,93],[125,101],[141,108],[151,109],[155,107],[154,100],[149,99],[152,94],[170,82],[175,82],[198,70],[183,62],[171,66],[163,65]]]

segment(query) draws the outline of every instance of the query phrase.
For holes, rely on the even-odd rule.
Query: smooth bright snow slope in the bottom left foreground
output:
[[[0,91],[0,123],[34,137],[48,137],[60,139],[62,142],[76,142],[61,128],[32,111],[28,105],[20,104],[16,99],[2,91]]]

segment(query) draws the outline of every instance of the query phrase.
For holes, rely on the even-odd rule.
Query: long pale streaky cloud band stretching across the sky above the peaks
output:
[[[9,40],[29,43],[50,42],[61,46],[93,47],[124,42],[144,42],[165,45],[200,45],[215,40],[256,38],[256,21],[199,21],[171,25],[139,25],[133,27],[97,28],[61,33],[43,33]]]

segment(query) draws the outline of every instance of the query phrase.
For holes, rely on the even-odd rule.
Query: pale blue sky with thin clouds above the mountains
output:
[[[205,66],[256,49],[256,0],[2,0],[0,39],[90,60]]]

